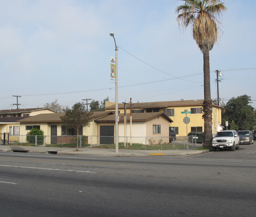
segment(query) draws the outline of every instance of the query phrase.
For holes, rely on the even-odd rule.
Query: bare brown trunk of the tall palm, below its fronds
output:
[[[203,83],[204,83],[204,102],[203,102],[203,118],[204,118],[204,139],[203,146],[212,146],[212,99],[210,88],[210,60],[209,51],[203,53]]]

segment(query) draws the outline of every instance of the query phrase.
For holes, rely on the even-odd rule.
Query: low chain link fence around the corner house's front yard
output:
[[[77,136],[29,136],[21,135],[17,137],[19,143],[34,143],[36,146],[46,146],[59,144],[66,146],[71,144],[76,147]],[[194,147],[197,145],[197,137],[119,137],[119,149],[138,149],[138,150],[170,150]],[[94,148],[115,148],[115,137],[108,136],[78,136],[79,147]]]

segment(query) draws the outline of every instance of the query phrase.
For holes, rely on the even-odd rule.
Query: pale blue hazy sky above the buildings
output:
[[[118,46],[118,102],[203,99],[203,54],[178,27],[183,1],[0,0],[0,110],[58,99],[115,102],[110,55]],[[210,51],[211,98],[244,94],[256,108],[255,1],[226,0],[223,34]],[[254,26],[254,27],[253,27]],[[91,102],[91,100],[88,100]]]

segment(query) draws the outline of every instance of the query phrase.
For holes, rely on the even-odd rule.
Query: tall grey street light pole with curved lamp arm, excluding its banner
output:
[[[117,44],[116,44],[116,40],[114,37],[114,33],[109,33],[110,36],[112,36],[114,38],[115,41],[115,46],[116,46],[116,100],[115,100],[115,104],[116,104],[116,109],[115,109],[115,122],[116,122],[116,153],[118,153],[118,121],[117,119],[119,119],[118,117],[118,79],[117,79],[117,52],[118,52],[118,48],[117,48]]]

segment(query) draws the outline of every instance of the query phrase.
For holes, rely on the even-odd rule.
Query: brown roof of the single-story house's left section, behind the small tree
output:
[[[98,118],[102,115],[114,114],[111,111],[94,112],[92,118]],[[65,115],[65,113],[49,113],[49,114],[39,114],[25,118],[21,120],[21,123],[31,123],[31,122],[62,122],[60,116]],[[1,120],[1,119],[0,119]]]

